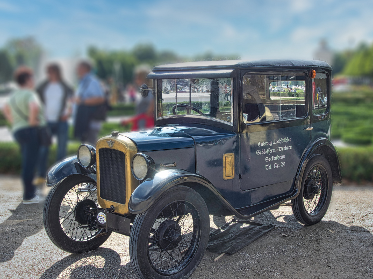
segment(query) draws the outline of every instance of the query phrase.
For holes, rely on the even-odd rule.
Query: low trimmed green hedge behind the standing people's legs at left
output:
[[[69,143],[67,154],[75,155],[79,145],[79,142]],[[53,144],[49,151],[48,167],[55,162],[56,155],[57,148],[56,145]],[[16,142],[0,142],[0,158],[0,173],[21,173],[21,152],[19,150],[19,145]]]

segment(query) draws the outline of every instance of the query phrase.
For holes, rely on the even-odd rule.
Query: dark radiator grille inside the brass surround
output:
[[[122,151],[111,148],[98,150],[100,160],[100,197],[126,203],[126,162]]]

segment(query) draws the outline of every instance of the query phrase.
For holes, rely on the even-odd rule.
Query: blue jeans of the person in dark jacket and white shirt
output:
[[[56,161],[60,161],[66,157],[66,145],[68,142],[68,131],[69,125],[67,121],[59,122],[48,122],[48,127],[52,135],[57,135],[57,158]],[[45,177],[47,172],[48,162],[48,146],[41,146],[38,161],[38,175]]]

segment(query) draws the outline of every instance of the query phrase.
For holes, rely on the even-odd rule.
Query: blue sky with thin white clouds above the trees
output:
[[[34,36],[52,58],[151,43],[183,56],[312,59],[323,38],[334,50],[372,42],[373,1],[0,0],[0,26],[0,46]]]

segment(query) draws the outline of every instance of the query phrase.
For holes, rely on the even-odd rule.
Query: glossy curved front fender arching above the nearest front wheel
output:
[[[205,177],[197,173],[190,173],[186,170],[170,169],[156,173],[153,179],[144,180],[132,192],[128,202],[128,211],[132,214],[140,214],[147,210],[165,191],[176,185],[188,185],[198,183],[209,188],[229,209],[231,205],[220,195],[215,187]]]

